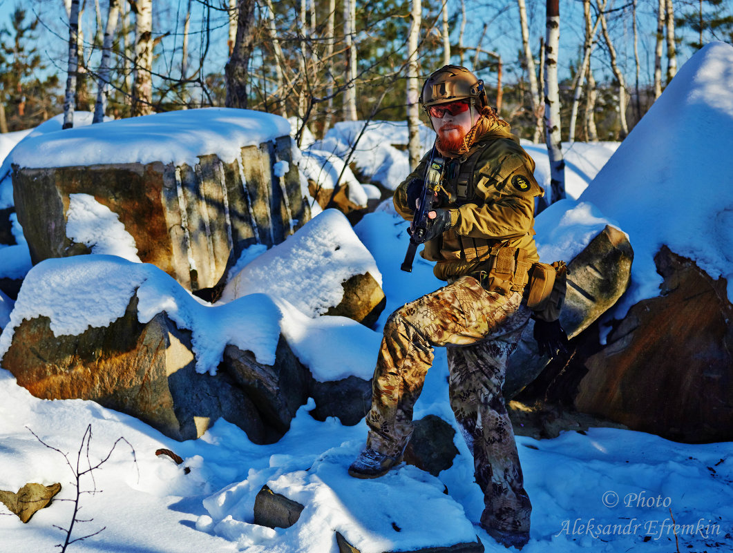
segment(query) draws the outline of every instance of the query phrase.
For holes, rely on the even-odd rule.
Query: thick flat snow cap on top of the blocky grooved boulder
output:
[[[244,146],[289,136],[287,119],[261,111],[202,108],[169,111],[31,134],[9,156],[21,167],[89,166],[100,163],[174,163],[194,167],[201,155],[232,163]]]

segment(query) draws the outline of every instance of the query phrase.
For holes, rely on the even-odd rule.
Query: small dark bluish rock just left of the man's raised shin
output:
[[[343,425],[354,426],[372,407],[372,381],[353,374],[331,382],[311,379],[309,395],[316,402],[316,408],[311,411],[314,419],[338,417]]]

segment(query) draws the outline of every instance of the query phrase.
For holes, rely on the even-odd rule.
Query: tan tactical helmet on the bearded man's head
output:
[[[484,81],[460,65],[443,65],[432,73],[422,86],[419,103],[427,110],[431,105],[468,98],[476,100],[479,110],[489,105]]]

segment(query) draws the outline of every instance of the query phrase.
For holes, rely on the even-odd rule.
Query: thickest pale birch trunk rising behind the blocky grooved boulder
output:
[[[132,115],[152,114],[152,0],[138,0]]]

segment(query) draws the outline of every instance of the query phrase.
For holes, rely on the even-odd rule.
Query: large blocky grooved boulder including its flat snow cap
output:
[[[115,227],[127,259],[212,288],[249,245],[309,220],[289,133],[279,116],[207,108],[26,138],[10,158],[32,260],[111,253]]]

